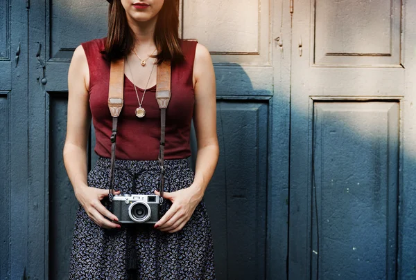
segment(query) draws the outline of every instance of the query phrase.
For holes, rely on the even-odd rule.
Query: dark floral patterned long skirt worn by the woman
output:
[[[165,167],[165,192],[175,192],[193,182],[188,160],[165,160]],[[157,160],[116,160],[115,170],[114,188],[121,190],[121,194],[153,194],[159,185]],[[109,171],[110,159],[99,158],[88,174],[89,186],[108,189]],[[103,200],[103,204],[108,207],[108,200]],[[164,200],[162,214],[170,205],[170,201]],[[136,267],[133,272],[128,271],[132,261]],[[205,204],[202,200],[187,225],[173,234],[146,224],[106,230],[98,227],[80,206],[70,265],[69,279],[76,280],[215,279],[211,227]]]

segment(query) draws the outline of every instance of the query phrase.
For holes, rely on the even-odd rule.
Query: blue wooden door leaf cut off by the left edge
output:
[[[1,1],[0,279],[21,279],[27,264],[27,17],[24,1]]]

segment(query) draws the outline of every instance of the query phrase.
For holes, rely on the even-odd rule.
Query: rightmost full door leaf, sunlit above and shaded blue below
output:
[[[402,7],[361,2],[294,3],[289,279],[397,279]]]

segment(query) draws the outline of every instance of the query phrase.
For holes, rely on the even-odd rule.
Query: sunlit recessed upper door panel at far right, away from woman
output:
[[[315,1],[312,20],[313,64],[399,66],[401,63],[400,0],[376,4],[359,0]]]

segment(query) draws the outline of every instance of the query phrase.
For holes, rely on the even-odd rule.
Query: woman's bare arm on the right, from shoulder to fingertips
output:
[[[162,231],[182,230],[202,200],[218,162],[219,147],[216,133],[216,86],[214,66],[207,48],[198,44],[193,66],[195,108],[193,123],[196,129],[198,152],[195,178],[187,189],[164,193],[173,204],[155,227]],[[156,194],[159,194],[156,192]]]

